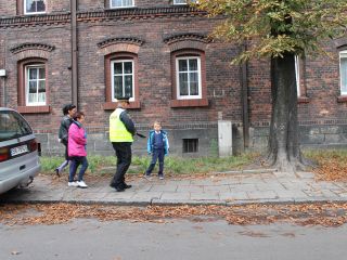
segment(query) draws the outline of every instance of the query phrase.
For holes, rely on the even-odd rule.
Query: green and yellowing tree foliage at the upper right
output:
[[[323,40],[346,34],[346,0],[200,0],[196,6],[224,17],[215,38],[252,42],[234,62],[320,53]]]

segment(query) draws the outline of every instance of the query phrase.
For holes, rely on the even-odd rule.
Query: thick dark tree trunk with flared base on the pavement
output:
[[[295,54],[271,58],[272,115],[268,144],[268,164],[279,171],[304,170],[298,142]]]

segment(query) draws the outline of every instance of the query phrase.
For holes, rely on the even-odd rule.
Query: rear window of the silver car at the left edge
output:
[[[0,112],[0,142],[31,133],[29,125],[16,112]]]

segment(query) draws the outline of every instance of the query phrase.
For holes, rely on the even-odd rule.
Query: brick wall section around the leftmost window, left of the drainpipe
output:
[[[48,54],[48,88],[50,92],[50,114],[26,114],[25,117],[36,129],[56,128],[61,118],[61,107],[70,102],[70,44],[69,25],[14,27],[5,30],[7,39],[7,92],[8,106],[16,108],[17,103],[17,62],[23,52],[14,54],[11,48],[24,42],[46,42],[55,49]],[[38,40],[42,39],[42,40]],[[54,130],[55,131],[55,130]]]

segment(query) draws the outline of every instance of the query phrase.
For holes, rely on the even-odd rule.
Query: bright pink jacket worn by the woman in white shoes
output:
[[[87,156],[86,132],[77,123],[74,121],[68,129],[68,156]]]

